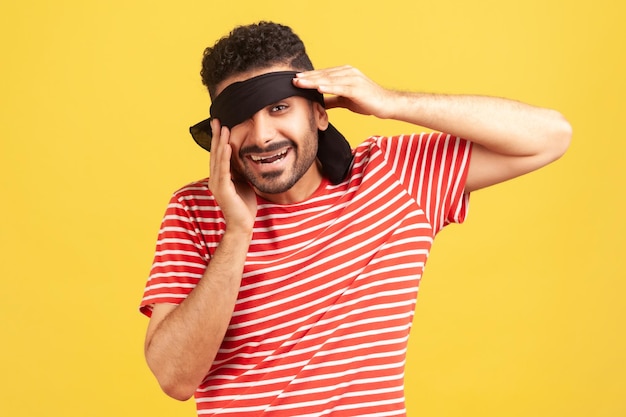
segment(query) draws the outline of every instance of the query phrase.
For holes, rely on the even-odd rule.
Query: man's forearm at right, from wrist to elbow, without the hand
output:
[[[497,97],[390,92],[388,118],[450,133],[502,155],[561,152],[568,122],[551,109]]]

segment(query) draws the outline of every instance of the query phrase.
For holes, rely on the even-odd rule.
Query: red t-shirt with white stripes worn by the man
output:
[[[198,415],[404,416],[409,329],[435,234],[462,222],[470,143],[372,137],[349,179],[306,201],[258,200],[230,326]],[[174,194],[141,311],[180,303],[225,230],[207,181]],[[207,277],[206,279],[210,279]]]

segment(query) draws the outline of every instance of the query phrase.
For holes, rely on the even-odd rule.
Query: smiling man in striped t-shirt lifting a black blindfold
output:
[[[464,220],[471,191],[559,158],[569,124],[514,101],[313,70],[291,29],[267,22],[207,48],[202,77],[212,117],[192,133],[210,176],[172,197],[141,304],[161,387],[195,394],[199,415],[404,415],[434,236]],[[445,133],[350,150],[332,107]]]

